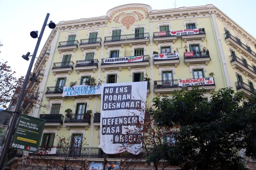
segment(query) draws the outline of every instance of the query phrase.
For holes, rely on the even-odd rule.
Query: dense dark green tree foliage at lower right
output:
[[[175,144],[158,148],[161,159],[181,169],[246,169],[238,153],[244,148],[246,156],[256,156],[255,95],[242,105],[243,94],[232,88],[213,92],[210,102],[204,92],[197,87],[178,91],[171,103],[167,96],[153,99],[155,109],[149,113],[156,124],[179,127]]]

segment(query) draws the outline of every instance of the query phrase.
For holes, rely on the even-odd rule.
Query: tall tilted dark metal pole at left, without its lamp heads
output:
[[[4,161],[5,161],[5,158],[6,158],[6,154],[7,154],[7,151],[9,149],[9,145],[10,145],[11,139],[12,139],[12,134],[13,134],[14,129],[15,129],[15,124],[16,124],[17,119],[18,119],[19,114],[20,114],[19,113],[20,105],[21,105],[21,103],[23,101],[23,98],[24,98],[24,93],[26,91],[26,87],[27,87],[27,84],[28,84],[28,78],[30,76],[30,73],[31,73],[31,70],[32,70],[32,67],[33,67],[33,64],[34,64],[34,61],[35,61],[35,58],[36,58],[36,53],[37,53],[37,50],[39,48],[39,45],[40,45],[40,42],[41,42],[41,39],[42,39],[42,36],[43,36],[43,33],[44,33],[45,26],[47,25],[47,21],[48,21],[49,16],[50,16],[50,14],[47,13],[47,15],[44,19],[43,27],[41,29],[40,35],[39,35],[37,43],[36,43],[34,53],[32,55],[32,58],[31,58],[31,61],[30,61],[29,67],[28,67],[28,72],[26,74],[24,83],[22,85],[22,89],[21,89],[21,92],[20,92],[20,97],[19,97],[19,100],[17,102],[17,106],[16,106],[15,112],[14,112],[13,117],[12,117],[12,122],[11,122],[11,125],[10,125],[10,129],[9,129],[9,132],[7,134],[7,137],[6,137],[6,140],[5,140],[5,143],[4,143],[3,152],[1,154],[0,170],[3,169],[3,166],[4,166]]]

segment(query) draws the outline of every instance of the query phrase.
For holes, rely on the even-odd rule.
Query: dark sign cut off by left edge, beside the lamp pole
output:
[[[1,119],[0,119],[0,148],[3,144],[4,136],[5,136],[6,130],[8,128],[8,124],[9,124],[11,115],[12,115],[11,111],[0,109],[0,117],[1,117]]]

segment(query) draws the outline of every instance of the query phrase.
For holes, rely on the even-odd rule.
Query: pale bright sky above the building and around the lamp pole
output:
[[[37,39],[31,38],[29,33],[36,30],[40,33],[46,13],[50,13],[48,23],[52,20],[57,24],[105,16],[109,9],[131,3],[148,4],[153,10],[175,8],[175,5],[178,8],[213,4],[256,38],[255,0],[177,0],[176,3],[175,0],[0,0],[0,42],[3,44],[0,62],[8,61],[17,77],[26,75],[30,60],[26,61],[21,56],[28,51],[33,53]],[[51,29],[46,27],[36,56],[50,33]]]

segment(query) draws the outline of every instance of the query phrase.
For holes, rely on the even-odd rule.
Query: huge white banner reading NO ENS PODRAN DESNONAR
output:
[[[104,84],[101,93],[100,145],[107,154],[124,151],[139,154],[141,141],[126,147],[128,139],[138,140],[136,135],[127,136],[128,129],[136,128],[137,120],[144,120],[144,115],[138,110],[145,108],[147,97],[147,81],[131,83]],[[144,101],[144,102],[142,102]],[[140,134],[138,134],[140,135]]]

